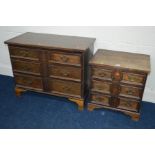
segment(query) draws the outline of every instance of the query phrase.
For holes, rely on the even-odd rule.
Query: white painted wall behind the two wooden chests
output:
[[[95,50],[111,49],[151,56],[151,73],[144,101],[155,103],[155,27],[149,26],[34,26],[0,27],[0,74],[12,76],[9,53],[4,41],[25,32],[95,37]]]

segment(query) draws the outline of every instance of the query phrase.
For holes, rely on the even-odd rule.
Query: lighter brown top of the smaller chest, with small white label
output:
[[[150,72],[150,56],[111,50],[98,50],[90,64]]]

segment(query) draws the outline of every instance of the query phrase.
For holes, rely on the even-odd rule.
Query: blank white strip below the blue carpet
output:
[[[104,122],[103,122],[104,123]],[[2,155],[154,155],[153,130],[1,131]]]

